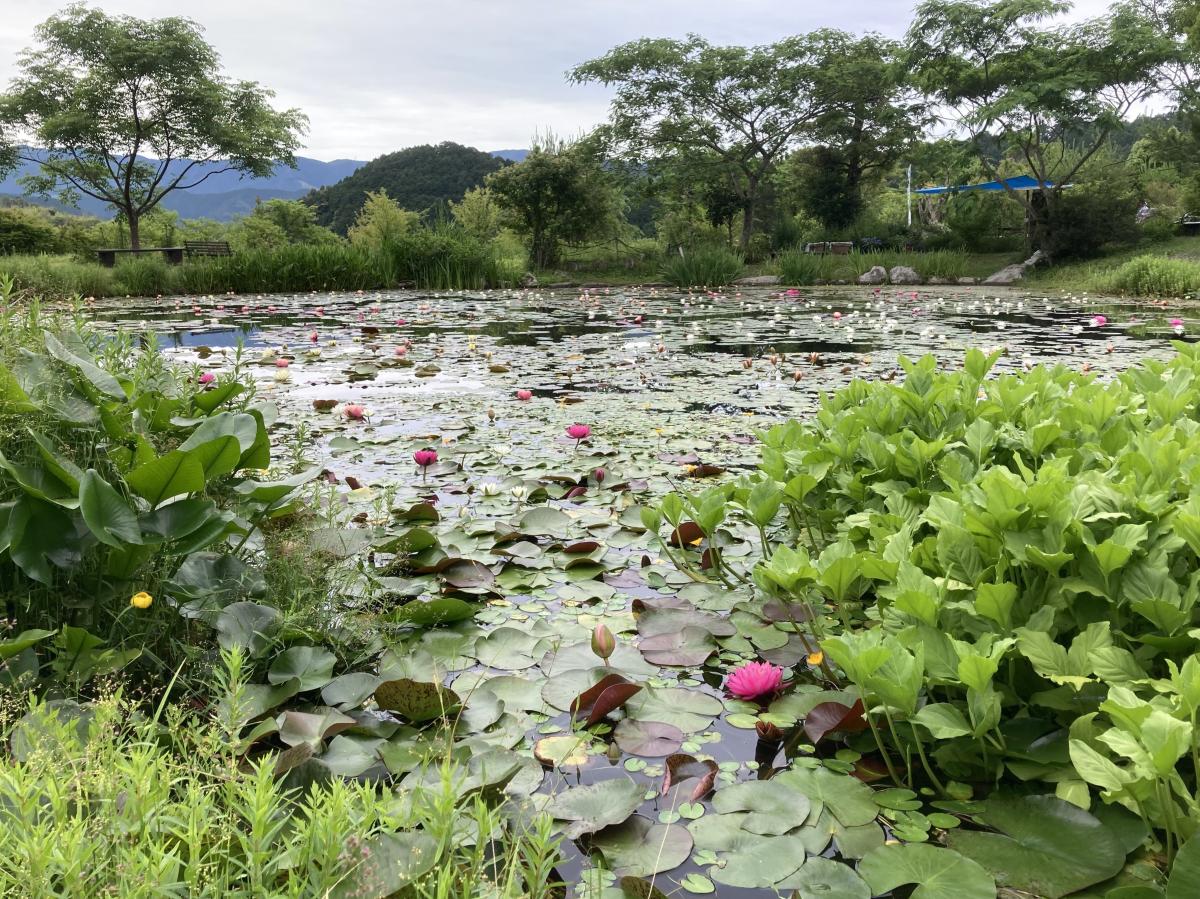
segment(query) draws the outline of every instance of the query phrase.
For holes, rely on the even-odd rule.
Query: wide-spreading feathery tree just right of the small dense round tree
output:
[[[622,154],[718,167],[740,200],[746,250],[772,172],[829,110],[817,83],[832,34],[764,47],[714,47],[697,35],[632,41],[570,78],[617,86],[607,134]]]

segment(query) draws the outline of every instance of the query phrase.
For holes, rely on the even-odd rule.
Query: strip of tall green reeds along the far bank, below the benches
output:
[[[370,290],[410,283],[467,290],[515,283],[520,271],[494,250],[450,228],[421,229],[379,250],[348,244],[293,245],[168,265],[157,257],[113,269],[64,257],[0,257],[0,275],[46,298]]]

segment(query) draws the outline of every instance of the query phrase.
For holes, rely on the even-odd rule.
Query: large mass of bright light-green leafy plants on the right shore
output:
[[[764,432],[756,477],[658,514],[760,534],[755,585],[853,685],[894,779],[1084,807],[1090,785],[1170,855],[1200,826],[1200,353],[1176,346],[1109,383],[902,360],[904,384],[851,383]]]

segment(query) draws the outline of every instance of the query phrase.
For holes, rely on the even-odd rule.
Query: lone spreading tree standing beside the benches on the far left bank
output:
[[[194,22],[74,5],[36,35],[0,95],[0,144],[10,163],[41,166],[32,192],[108,203],[133,248],[142,217],[170,192],[295,164],[305,118],[272,109],[258,84],[226,78]]]

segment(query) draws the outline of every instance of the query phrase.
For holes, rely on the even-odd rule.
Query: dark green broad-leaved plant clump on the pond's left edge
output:
[[[188,588],[180,573],[223,558],[227,538],[244,544],[290,511],[316,472],[269,495],[247,487],[257,484],[248,469],[270,466],[270,410],[253,404],[246,384],[200,389],[152,349],[102,342],[36,308],[7,313],[0,329],[0,579],[10,618],[22,630],[77,633],[66,653],[77,661],[103,646],[86,628],[152,647],[146,658],[169,664],[186,621],[168,597],[196,603],[214,588]],[[157,603],[131,609],[143,592]],[[36,677],[31,653],[6,675]],[[106,666],[91,665],[83,679]]]

